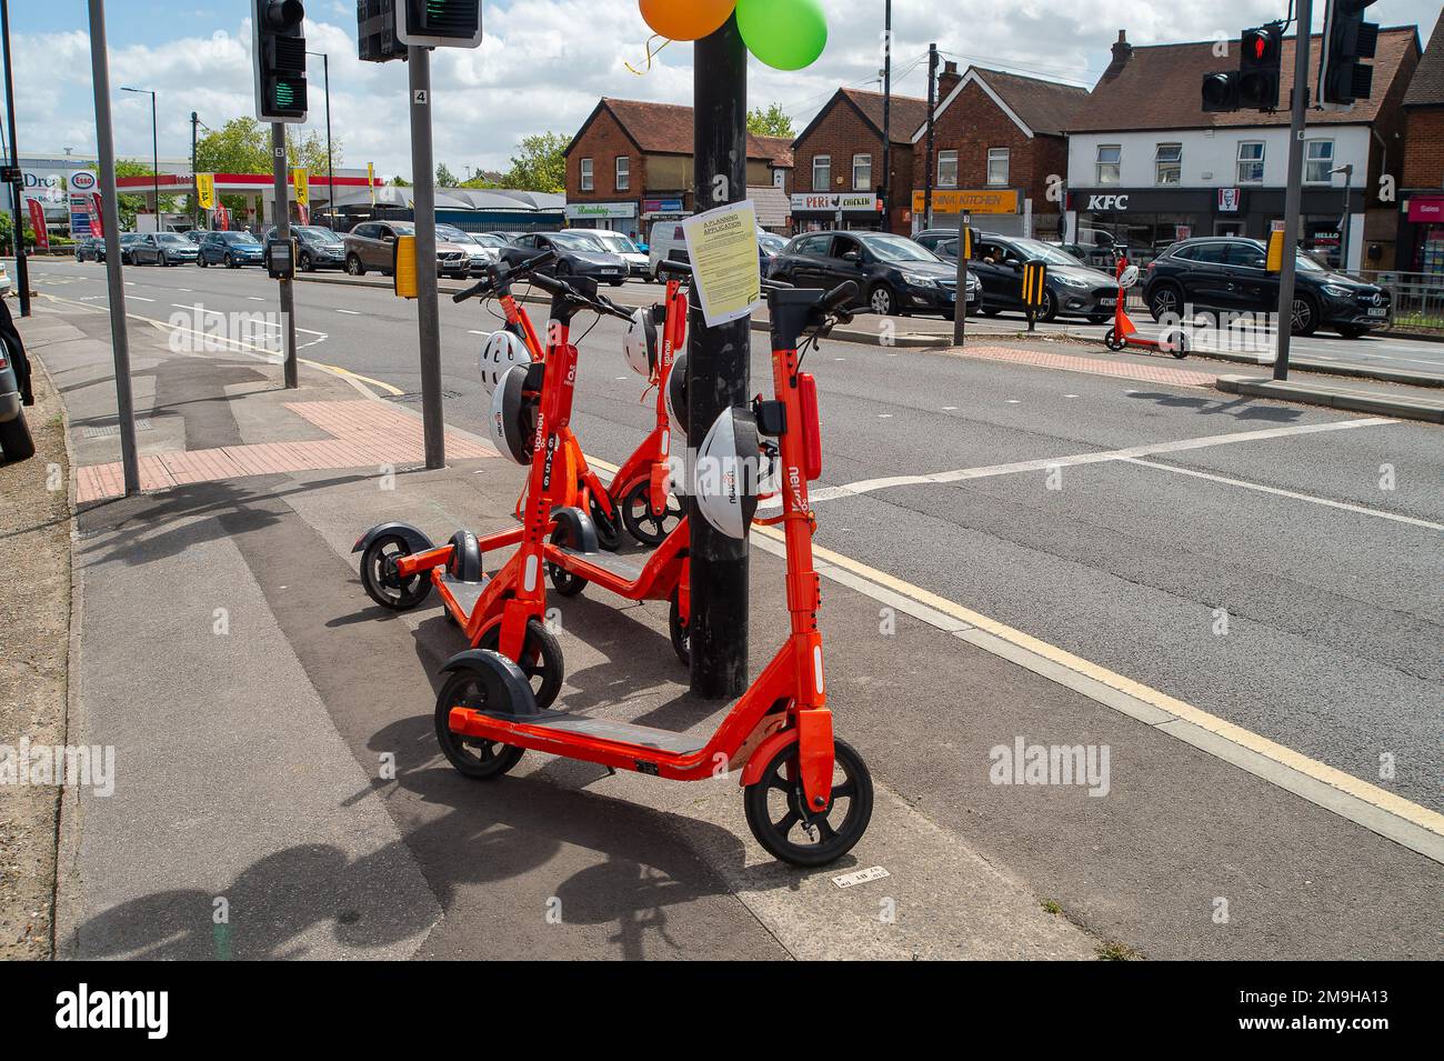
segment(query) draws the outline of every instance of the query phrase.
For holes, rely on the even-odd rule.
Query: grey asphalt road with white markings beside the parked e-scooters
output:
[[[105,303],[92,263],[33,273],[42,292]],[[127,309],[146,318],[276,306],[258,270],[126,276]],[[303,357],[414,400],[414,305],[336,284],[297,284],[296,302]],[[442,303],[446,419],[471,430],[487,411],[475,354],[492,326],[477,303]],[[651,413],[618,325],[598,323],[580,345],[573,426],[589,453],[619,463]],[[826,345],[810,368],[823,403],[820,488],[972,469],[822,494],[832,495],[819,502],[822,546],[1444,807],[1437,427],[1337,429],[1367,417],[853,344]],[[764,333],[752,374],[768,374]],[[1132,449],[1180,440],[1196,442]]]

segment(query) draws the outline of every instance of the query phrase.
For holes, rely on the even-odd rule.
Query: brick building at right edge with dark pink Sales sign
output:
[[[1444,277],[1444,14],[1404,95],[1398,268]]]

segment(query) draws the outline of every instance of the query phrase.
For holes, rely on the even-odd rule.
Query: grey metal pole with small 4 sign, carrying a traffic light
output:
[[[432,165],[432,53],[407,49],[412,87],[412,180],[416,218],[416,331],[422,354],[422,435],[426,466],[446,466],[442,419],[442,338],[436,306],[436,167]],[[745,154],[747,152],[744,152]]]

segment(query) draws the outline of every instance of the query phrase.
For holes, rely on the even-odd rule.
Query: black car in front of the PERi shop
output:
[[[884,316],[953,316],[957,267],[926,247],[885,232],[807,232],[773,258],[768,276],[797,287],[836,287],[853,280],[862,303]],[[967,273],[966,306],[978,305],[976,276]]]

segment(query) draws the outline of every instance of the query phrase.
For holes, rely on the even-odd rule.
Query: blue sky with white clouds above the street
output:
[[[752,64],[751,101],[781,102],[799,127],[840,84],[877,87],[882,0],[823,0],[832,38],[807,71],[781,74]],[[189,154],[189,114],[209,126],[250,114],[250,0],[160,3],[108,0],[108,43],[116,147],[149,156],[149,97],[120,94],[134,84],[159,92],[160,154]],[[1108,64],[1119,27],[1135,43],[1199,40],[1276,17],[1282,0],[1131,0],[1097,19],[1082,4],[1043,0],[969,0],[966,39],[956,10],[936,0],[895,0],[895,91],[926,92],[917,62],[937,40],[965,64],[1092,84]],[[1321,9],[1323,4],[1320,3]],[[1427,40],[1438,0],[1380,0],[1370,17],[1418,23]],[[404,110],[406,65],[361,64],[355,55],[355,1],[306,0],[308,46],[331,55],[332,124],[347,166],[374,162],[384,176],[410,173]],[[1320,14],[1321,17],[1321,14]],[[85,0],[10,0],[17,68],[22,153],[94,150]],[[475,52],[448,51],[433,61],[436,156],[458,175],[504,167],[527,133],[572,133],[601,95],[687,102],[690,48],[673,45],[645,75],[640,62],[647,29],[634,0],[491,0],[487,40]],[[585,27],[585,30],[579,30]],[[319,59],[312,72],[312,127],[322,130]]]

